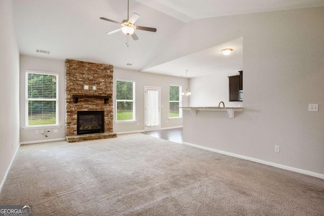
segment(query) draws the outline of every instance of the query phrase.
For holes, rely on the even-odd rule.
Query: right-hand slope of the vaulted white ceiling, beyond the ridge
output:
[[[193,19],[323,6],[321,0],[135,0],[184,22]]]

